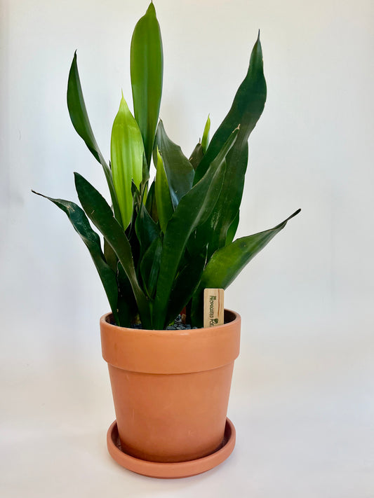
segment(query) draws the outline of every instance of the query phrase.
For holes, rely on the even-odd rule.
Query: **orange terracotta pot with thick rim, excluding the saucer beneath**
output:
[[[240,317],[183,331],[149,331],[100,319],[116,425],[127,455],[149,462],[187,462],[222,446]]]

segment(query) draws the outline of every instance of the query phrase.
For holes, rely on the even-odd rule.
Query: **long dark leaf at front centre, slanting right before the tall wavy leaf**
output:
[[[232,132],[208,172],[181,200],[163,237],[161,269],[154,300],[153,325],[166,325],[166,312],[174,279],[190,235],[210,216],[225,177],[225,155],[235,143],[238,130]]]

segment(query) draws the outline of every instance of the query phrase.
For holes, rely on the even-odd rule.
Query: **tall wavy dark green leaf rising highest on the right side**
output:
[[[209,243],[208,257],[226,243],[227,230],[232,225],[243,195],[248,164],[248,137],[261,116],[266,100],[266,83],[263,72],[260,38],[255,43],[246,78],[236,92],[234,102],[225,120],[215,132],[206,154],[196,169],[194,182],[199,181],[211,161],[220,151],[227,136],[240,125],[238,138],[227,154],[227,174],[220,198],[205,226],[199,228],[197,240],[203,247]]]

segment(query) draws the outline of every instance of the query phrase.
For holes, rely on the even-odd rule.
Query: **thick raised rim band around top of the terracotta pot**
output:
[[[240,315],[225,310],[229,321],[187,330],[147,330],[110,324],[100,318],[102,357],[109,365],[139,373],[192,373],[232,363],[239,355]]]

